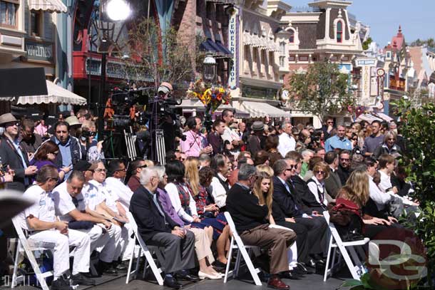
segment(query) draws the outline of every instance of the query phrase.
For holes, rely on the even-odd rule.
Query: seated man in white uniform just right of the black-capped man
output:
[[[129,224],[128,220],[119,214],[118,206],[116,204],[118,201],[118,195],[116,195],[115,190],[108,187],[105,182],[107,172],[106,167],[101,161],[96,162],[96,165],[96,170],[93,172],[93,180],[89,183],[96,186],[98,188],[98,194],[103,196],[101,197],[103,202],[96,206],[96,212],[113,219],[115,227],[121,227],[121,237],[116,239],[116,251],[113,256],[113,265],[116,266],[115,269],[121,271],[126,269],[126,267],[122,264],[118,264],[118,259],[121,257],[127,246]]]

